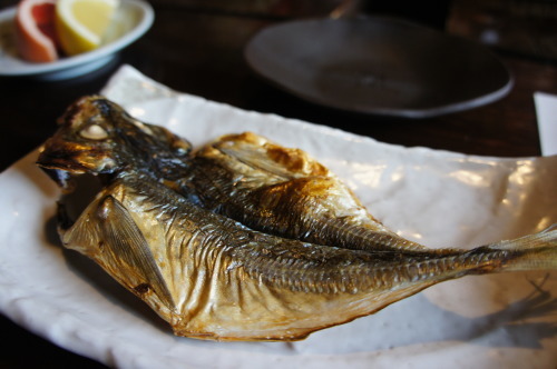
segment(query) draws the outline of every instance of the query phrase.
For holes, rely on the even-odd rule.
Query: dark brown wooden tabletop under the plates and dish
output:
[[[557,64],[551,58],[524,50],[494,49],[515,78],[507,97],[473,110],[423,120],[373,117],[314,106],[253,74],[243,59],[243,47],[257,30],[291,18],[325,16],[338,2],[323,1],[315,9],[315,2],[310,0],[152,0],[156,12],[153,28],[114,63],[88,76],[58,82],[0,77],[0,170],[38,147],[55,131],[55,121],[65,108],[80,96],[99,91],[121,63],[129,63],[179,91],[243,109],[336,127],[383,142],[480,156],[540,154],[532,93],[557,93]],[[0,10],[14,3],[0,0]],[[461,8],[452,10],[462,11]],[[459,16],[449,7],[447,20],[456,19],[451,23],[455,30],[461,30],[458,26],[467,21]],[[4,341],[1,368],[102,367],[57,348],[3,317],[0,331]]]

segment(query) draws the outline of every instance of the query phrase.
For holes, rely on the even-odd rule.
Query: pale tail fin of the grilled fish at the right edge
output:
[[[499,271],[557,269],[557,223],[534,235],[487,246],[500,251]]]

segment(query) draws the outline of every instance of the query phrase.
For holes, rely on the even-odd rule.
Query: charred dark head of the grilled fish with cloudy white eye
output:
[[[37,163],[62,188],[68,188],[68,173],[156,172],[168,162],[184,162],[192,149],[186,140],[134,119],[101,96],[77,100],[58,123]]]

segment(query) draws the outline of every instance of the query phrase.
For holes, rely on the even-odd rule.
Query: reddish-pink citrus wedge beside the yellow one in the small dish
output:
[[[55,31],[56,0],[22,0],[16,11],[16,46],[20,57],[33,62],[58,59]]]

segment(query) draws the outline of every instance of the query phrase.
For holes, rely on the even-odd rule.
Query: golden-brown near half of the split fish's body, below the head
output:
[[[539,248],[539,240],[371,253],[283,239],[129,174],[105,188],[61,239],[176,335],[216,340],[299,340],[448,279],[520,270],[546,253],[556,267],[555,245]]]

